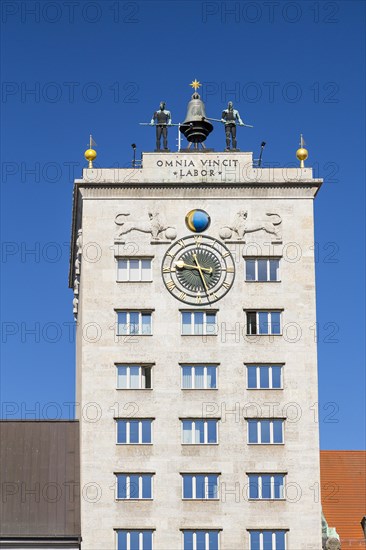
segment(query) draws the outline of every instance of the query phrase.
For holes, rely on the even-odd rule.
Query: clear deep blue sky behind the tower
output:
[[[364,447],[365,5],[2,3],[2,416],[72,410],[68,243],[89,133],[100,166],[126,166],[132,142],[138,154],[154,145],[137,123],[162,99],[181,121],[197,78],[208,116],[232,100],[254,125],[239,130],[242,150],[265,140],[264,162],[288,165],[302,132],[325,180],[315,201],[321,446]],[[209,139],[222,149],[222,132]]]

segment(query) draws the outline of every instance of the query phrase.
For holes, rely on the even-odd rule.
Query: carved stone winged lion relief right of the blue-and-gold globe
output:
[[[277,227],[282,223],[281,217],[278,214],[269,212],[266,212],[266,216],[275,216],[276,218],[259,222],[248,221],[248,212],[246,210],[239,210],[231,225],[224,225],[220,228],[219,235],[224,240],[236,237],[242,241],[247,233],[265,231],[273,235],[276,241],[281,241],[282,235],[280,229]]]

